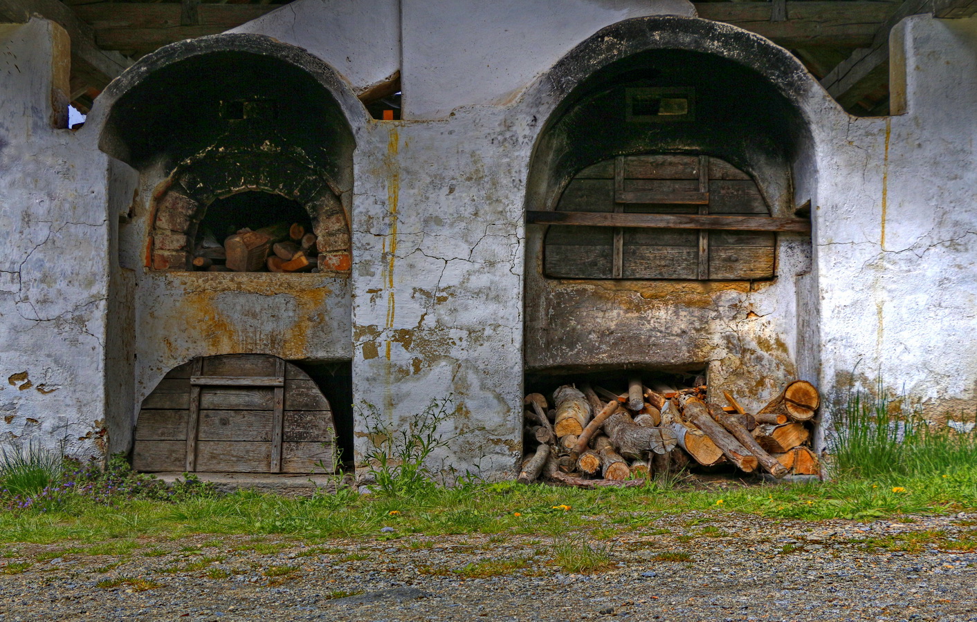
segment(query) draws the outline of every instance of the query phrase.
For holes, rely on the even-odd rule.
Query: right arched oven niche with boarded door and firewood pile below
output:
[[[761,73],[780,63],[645,50],[582,77],[547,120],[527,202],[525,446],[551,454],[551,479],[820,472],[819,396],[794,382],[810,141]]]

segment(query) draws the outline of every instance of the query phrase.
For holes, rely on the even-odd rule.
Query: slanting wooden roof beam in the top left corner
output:
[[[75,85],[98,90],[125,71],[132,61],[117,52],[100,50],[95,30],[59,0],[0,0],[0,21],[22,23],[39,16],[60,24],[71,38],[71,75]]]

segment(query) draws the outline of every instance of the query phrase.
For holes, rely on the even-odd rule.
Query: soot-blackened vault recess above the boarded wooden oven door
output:
[[[688,120],[628,119],[627,90],[694,94]],[[613,62],[581,82],[550,117],[534,166],[548,169],[547,206],[579,170],[616,155],[707,154],[783,187],[807,130],[768,78],[739,62],[688,50],[647,50]],[[777,194],[777,192],[773,192]],[[775,206],[776,210],[776,206]]]

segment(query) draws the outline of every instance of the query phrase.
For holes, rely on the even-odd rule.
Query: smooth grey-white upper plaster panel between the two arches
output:
[[[694,17],[687,0],[402,0],[404,119],[444,119],[505,105],[604,26],[653,15]]]

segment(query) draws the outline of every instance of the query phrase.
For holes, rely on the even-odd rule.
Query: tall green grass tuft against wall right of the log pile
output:
[[[881,382],[874,396],[851,395],[833,432],[836,477],[931,477],[977,463],[977,428],[931,424]]]

